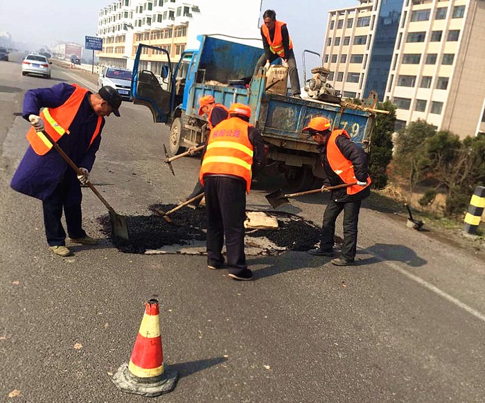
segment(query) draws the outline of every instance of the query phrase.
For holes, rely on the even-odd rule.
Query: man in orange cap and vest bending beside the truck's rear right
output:
[[[308,138],[312,138],[318,144],[321,165],[326,173],[322,192],[328,192],[328,186],[357,183],[331,190],[330,202],[326,206],[321,228],[320,247],[311,249],[308,253],[315,256],[334,256],[335,221],[344,211],[342,251],[339,258],[330,262],[336,266],[353,265],[357,249],[360,203],[370,195],[371,178],[367,174],[367,156],[345,130],[332,130],[327,118],[312,118],[302,132],[307,133]]]

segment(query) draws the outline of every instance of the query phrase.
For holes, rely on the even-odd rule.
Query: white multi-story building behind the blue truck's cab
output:
[[[189,47],[198,47],[197,35],[222,34],[261,38],[258,16],[261,0],[247,0],[237,19],[228,19],[222,0],[119,0],[98,16],[98,37],[103,38],[100,64],[132,69],[138,44],[166,49],[175,63]],[[261,40],[259,41],[261,44]],[[256,45],[257,46],[257,45]],[[166,54],[145,49],[141,69],[159,74],[168,62]]]

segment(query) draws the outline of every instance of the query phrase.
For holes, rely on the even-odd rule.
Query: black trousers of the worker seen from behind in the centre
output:
[[[229,273],[242,274],[246,269],[244,221],[246,219],[246,185],[229,177],[204,177],[207,214],[207,263],[220,266],[226,235]]]

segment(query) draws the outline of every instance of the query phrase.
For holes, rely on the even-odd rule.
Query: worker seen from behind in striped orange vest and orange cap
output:
[[[263,138],[249,123],[251,108],[234,103],[229,117],[213,127],[207,139],[200,181],[204,186],[207,215],[207,266],[224,267],[224,235],[229,277],[252,280],[247,268],[244,237],[246,193],[251,178],[266,164]]]

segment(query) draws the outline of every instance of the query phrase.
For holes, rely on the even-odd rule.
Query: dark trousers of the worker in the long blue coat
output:
[[[86,236],[82,229],[81,188],[79,182],[74,181],[77,181],[77,178],[60,181],[53,194],[42,202],[44,227],[47,243],[50,247],[66,244],[66,232],[61,223],[63,209],[69,238]]]

